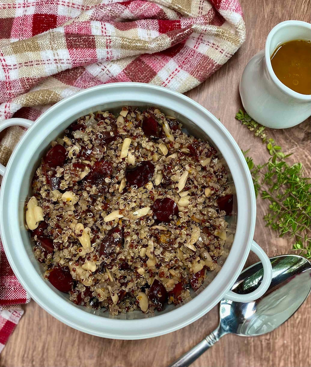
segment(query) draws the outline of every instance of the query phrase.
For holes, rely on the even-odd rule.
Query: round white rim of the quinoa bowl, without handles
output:
[[[222,153],[233,176],[237,190],[238,208],[244,209],[239,210],[237,230],[231,251],[222,269],[215,277],[215,279],[219,280],[220,286],[217,283],[216,287],[214,279],[211,284],[195,297],[196,302],[193,299],[179,308],[162,315],[147,317],[146,319],[117,320],[113,319],[113,317],[98,317],[81,310],[72,302],[59,297],[55,288],[49,286],[48,282],[45,282],[42,276],[39,276],[31,264],[23,246],[22,228],[16,221],[21,211],[21,205],[23,207],[25,202],[25,200],[23,200],[23,203],[19,202],[18,198],[23,174],[25,174],[27,169],[27,162],[30,161],[34,149],[37,148],[40,141],[44,140],[44,134],[40,138],[40,132],[42,135],[42,130],[45,130],[45,136],[47,136],[48,131],[56,130],[55,124],[48,124],[49,120],[50,122],[53,121],[56,110],[58,113],[57,126],[59,126],[64,121],[64,117],[60,118],[60,116],[65,116],[74,107],[82,111],[84,107],[95,106],[96,101],[99,101],[99,104],[104,104],[103,94],[100,94],[100,92],[106,93],[106,103],[107,100],[108,103],[120,100],[121,105],[122,101],[127,101],[130,98],[131,101],[135,100],[138,104],[162,105],[170,109],[172,109],[172,103],[176,103],[181,109],[187,110],[186,114],[181,113],[181,115],[193,121],[207,135],[215,134],[213,137],[219,139],[219,144],[223,145],[223,150],[218,147],[217,149]],[[188,111],[200,118],[196,121],[192,120],[188,116]],[[208,123],[204,124],[206,121]],[[207,127],[209,127],[209,132]],[[211,139],[213,140],[212,137]],[[33,141],[32,145],[29,144],[29,140]],[[225,148],[228,151],[225,152]],[[29,154],[31,150],[33,150],[33,153]],[[20,172],[24,173],[20,174]],[[14,186],[12,186],[13,181]],[[77,92],[57,102],[39,116],[23,135],[7,164],[0,190],[0,216],[1,239],[8,261],[22,286],[41,307],[63,323],[91,335],[115,339],[143,339],[167,334],[190,324],[203,316],[223,298],[223,295],[231,288],[241,272],[248,257],[255,230],[256,200],[252,178],[241,149],[227,129],[211,112],[189,97],[167,88],[145,83],[125,82],[103,84]],[[13,236],[14,243],[12,241]],[[233,249],[235,251],[232,251]],[[224,270],[225,268],[226,271]]]

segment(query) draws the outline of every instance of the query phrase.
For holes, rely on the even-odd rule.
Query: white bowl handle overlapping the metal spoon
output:
[[[238,294],[232,291],[228,291],[223,298],[235,302],[251,302],[261,297],[269,288],[272,279],[271,262],[266,255],[266,252],[264,252],[263,249],[255,241],[252,241],[250,250],[255,252],[255,254],[259,257],[261,264],[263,265],[263,279],[261,280],[259,287],[255,291],[247,294]]]

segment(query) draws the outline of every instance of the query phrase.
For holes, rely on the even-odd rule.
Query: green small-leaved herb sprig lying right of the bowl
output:
[[[269,201],[264,216],[266,225],[279,233],[294,239],[293,250],[311,258],[311,179],[304,177],[301,163],[289,165],[281,146],[268,138],[265,128],[247,113],[239,110],[235,116],[256,137],[266,144],[270,158],[264,164],[255,165],[253,159],[244,156],[252,174],[256,196]]]

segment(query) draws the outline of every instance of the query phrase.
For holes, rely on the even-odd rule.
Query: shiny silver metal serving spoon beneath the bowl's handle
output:
[[[219,326],[199,344],[169,367],[186,367],[214,345],[223,335],[233,333],[245,337],[266,334],[289,319],[311,290],[311,264],[298,255],[270,258],[272,281],[267,292],[252,302],[220,302]],[[261,262],[245,269],[231,290],[245,294],[255,290],[263,277]]]

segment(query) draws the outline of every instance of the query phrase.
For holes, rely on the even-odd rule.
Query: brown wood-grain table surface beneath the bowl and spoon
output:
[[[241,149],[251,149],[255,162],[265,153],[255,138],[234,119],[241,107],[238,83],[249,59],[264,47],[272,27],[287,19],[310,22],[307,0],[241,0],[247,39],[240,50],[201,86],[187,93],[201,103],[231,132]],[[293,161],[310,174],[310,119],[297,127],[268,133]],[[266,155],[267,157],[267,155]],[[310,176],[309,176],[310,177]],[[255,240],[269,256],[290,253],[292,241],[280,239],[264,226],[266,203],[257,200]],[[256,260],[252,254],[248,264]],[[274,332],[256,338],[226,335],[193,363],[193,367],[306,367],[311,366],[311,302]],[[218,324],[218,306],[193,324],[157,338],[121,341],[93,337],[54,319],[34,301],[22,317],[1,354],[0,367],[165,367],[189,350]]]

